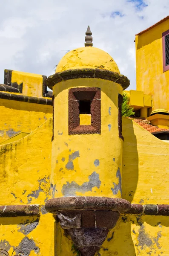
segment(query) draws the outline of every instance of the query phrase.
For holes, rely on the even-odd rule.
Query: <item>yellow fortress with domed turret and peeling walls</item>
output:
[[[139,125],[166,131],[158,127],[163,121],[122,117],[129,80],[92,47],[89,27],[85,40],[47,79],[5,70],[0,252],[169,255],[169,143]],[[138,112],[151,108],[146,91],[128,95]]]

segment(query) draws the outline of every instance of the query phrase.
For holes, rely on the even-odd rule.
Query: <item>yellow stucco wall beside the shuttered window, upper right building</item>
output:
[[[136,35],[137,90],[152,95],[152,109],[169,110],[169,70],[163,72],[162,33],[169,29],[169,19],[141,35]]]

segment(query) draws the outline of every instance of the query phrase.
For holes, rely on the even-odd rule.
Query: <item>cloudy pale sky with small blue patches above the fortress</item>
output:
[[[3,70],[49,76],[67,50],[93,45],[108,52],[136,88],[135,34],[169,15],[169,0],[0,0]]]

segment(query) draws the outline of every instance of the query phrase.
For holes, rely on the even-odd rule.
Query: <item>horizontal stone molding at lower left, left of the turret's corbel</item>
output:
[[[1,205],[0,217],[19,217],[40,215],[39,204]]]

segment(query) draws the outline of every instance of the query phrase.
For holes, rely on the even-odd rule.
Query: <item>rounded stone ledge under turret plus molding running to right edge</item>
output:
[[[49,199],[45,208],[47,212],[58,214],[60,210],[87,209],[112,210],[125,214],[169,216],[169,204],[130,204],[120,198],[106,197],[63,197]]]

